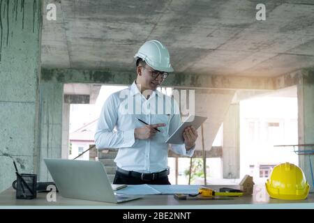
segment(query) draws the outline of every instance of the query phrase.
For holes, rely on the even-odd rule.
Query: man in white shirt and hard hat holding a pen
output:
[[[135,55],[137,77],[128,88],[105,101],[95,134],[96,148],[118,148],[114,184],[170,184],[167,138],[181,124],[177,102],[158,86],[173,68],[167,48],[150,40]],[[114,130],[115,128],[115,130]],[[184,130],[175,153],[192,156],[197,139],[193,126]]]

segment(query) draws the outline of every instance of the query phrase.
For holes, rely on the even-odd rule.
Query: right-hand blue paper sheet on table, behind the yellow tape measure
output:
[[[197,194],[201,185],[151,185],[160,194]]]

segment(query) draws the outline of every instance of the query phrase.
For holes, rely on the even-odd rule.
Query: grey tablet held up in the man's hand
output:
[[[188,116],[188,118],[186,118],[186,121],[184,121],[184,123],[181,123],[181,125],[179,126],[179,128],[177,128],[177,130],[175,130],[172,135],[169,137],[169,139],[167,139],[165,141],[166,144],[184,144],[184,137],[183,137],[183,132],[185,130],[186,127],[192,125],[195,130],[197,130],[197,128],[200,128],[200,125],[202,125],[202,123],[204,123],[204,121],[207,119],[207,117],[204,116]]]

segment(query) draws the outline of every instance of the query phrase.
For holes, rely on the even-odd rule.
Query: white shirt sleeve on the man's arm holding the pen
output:
[[[114,131],[117,125],[119,100],[114,100],[114,94],[105,101],[98,119],[95,134],[96,148],[124,148],[135,143],[134,129]]]

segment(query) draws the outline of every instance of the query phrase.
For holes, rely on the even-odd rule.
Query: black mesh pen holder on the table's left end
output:
[[[12,185],[16,190],[16,199],[34,199],[37,197],[36,174],[17,174],[17,180]]]

